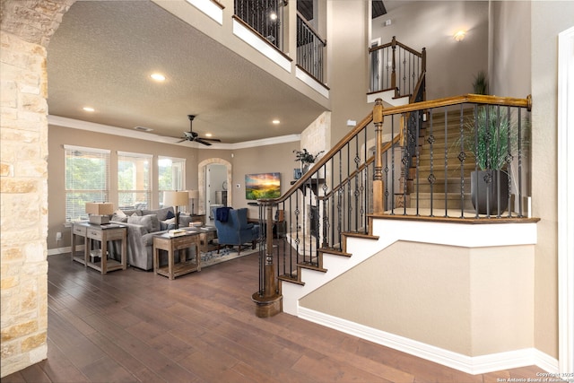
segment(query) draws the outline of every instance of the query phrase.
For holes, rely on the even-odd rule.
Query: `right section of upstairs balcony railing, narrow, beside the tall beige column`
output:
[[[301,13],[297,13],[297,65],[319,83],[324,82],[326,41]]]

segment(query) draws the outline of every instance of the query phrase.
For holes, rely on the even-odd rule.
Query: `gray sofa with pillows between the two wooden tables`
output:
[[[123,213],[123,214],[122,214]],[[179,226],[188,226],[188,216],[179,216]],[[143,270],[153,269],[153,236],[175,229],[172,207],[158,210],[122,210],[111,216],[111,222],[127,227],[127,264]],[[112,246],[113,257],[119,254],[119,244]],[[178,261],[178,259],[176,259]],[[167,253],[160,253],[160,265],[167,265]]]

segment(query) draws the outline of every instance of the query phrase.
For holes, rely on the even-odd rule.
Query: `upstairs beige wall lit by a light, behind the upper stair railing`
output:
[[[391,25],[384,25],[387,20]],[[466,37],[456,41],[461,29]],[[474,74],[488,70],[488,2],[418,1],[373,20],[371,39],[385,44],[393,36],[417,51],[427,49],[427,100],[471,93]]]

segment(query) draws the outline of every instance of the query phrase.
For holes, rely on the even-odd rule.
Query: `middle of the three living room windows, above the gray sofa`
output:
[[[117,201],[120,209],[152,208],[152,155],[117,152]]]

